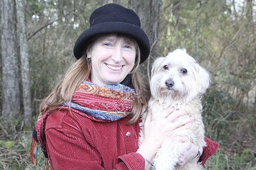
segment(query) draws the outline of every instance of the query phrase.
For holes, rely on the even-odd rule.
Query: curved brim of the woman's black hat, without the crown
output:
[[[106,33],[128,34],[131,37],[134,37],[140,47],[140,63],[143,63],[148,58],[150,53],[150,44],[147,34],[143,31],[143,29],[130,23],[107,22],[99,23],[82,32],[73,49],[76,59],[83,56],[86,50],[87,42],[91,37]]]

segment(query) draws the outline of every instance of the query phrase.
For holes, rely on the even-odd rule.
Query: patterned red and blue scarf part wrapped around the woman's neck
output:
[[[92,82],[82,82],[75,91],[69,106],[102,120],[116,121],[127,116],[134,105],[134,89],[122,84],[100,87]]]

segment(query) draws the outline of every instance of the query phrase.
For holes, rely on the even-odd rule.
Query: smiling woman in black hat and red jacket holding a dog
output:
[[[148,37],[134,11],[117,4],[93,11],[90,28],[74,46],[78,61],[44,99],[35,125],[33,136],[53,170],[149,169],[166,138],[182,142],[187,150],[177,167],[199,160],[202,151],[197,146],[172,136],[191,122],[188,117],[173,123],[187,114],[173,108],[154,121],[149,111],[138,148],[138,124],[150,97],[138,67],[149,53]],[[206,141],[202,163],[218,149],[218,144]]]

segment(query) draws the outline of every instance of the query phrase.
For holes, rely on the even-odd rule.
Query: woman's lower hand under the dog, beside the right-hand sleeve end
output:
[[[186,136],[176,136],[174,139],[176,142],[180,142],[183,145],[184,152],[181,153],[181,156],[178,158],[179,162],[176,164],[176,167],[183,167],[188,161],[194,159],[198,154],[198,146],[193,144]],[[200,156],[203,151],[201,150]],[[195,160],[198,161],[200,156]]]

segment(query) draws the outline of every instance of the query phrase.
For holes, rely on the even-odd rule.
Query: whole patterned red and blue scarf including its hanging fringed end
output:
[[[84,80],[73,94],[71,102],[64,102],[56,109],[70,109],[72,113],[86,116],[99,122],[110,122],[122,119],[131,113],[134,106],[135,90],[122,85],[106,85],[101,87],[92,82]],[[44,133],[45,122],[49,112],[38,116],[33,131],[31,143],[31,159],[33,163],[33,152],[37,153],[38,144],[48,158],[46,148],[46,136]]]

